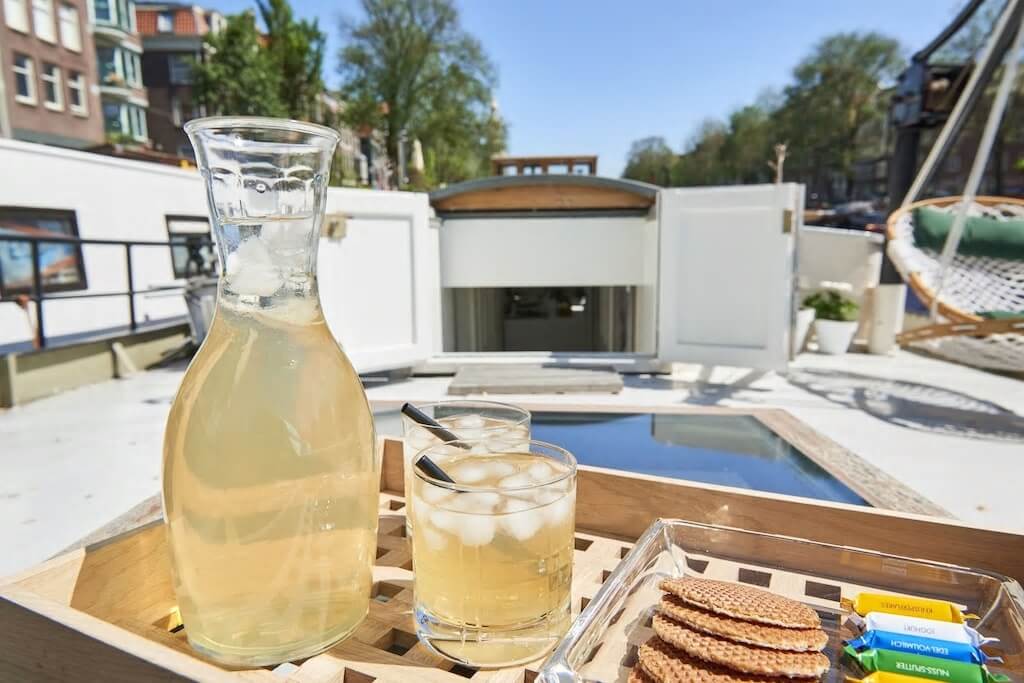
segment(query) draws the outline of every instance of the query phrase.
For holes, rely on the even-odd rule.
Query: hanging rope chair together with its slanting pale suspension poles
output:
[[[995,221],[1024,218],[1024,200],[1001,197],[978,197],[978,187],[988,163],[995,133],[1007,110],[1018,59],[1024,45],[1024,13],[1021,0],[1008,0],[984,47],[979,63],[946,120],[902,206],[889,217],[886,249],[903,281],[930,310],[932,324],[898,335],[901,346],[923,346],[928,350],[979,368],[1024,371],[1024,260],[1019,254],[1002,258],[1018,237],[1007,238],[1015,226],[1006,226],[989,245],[984,256],[957,253],[968,219],[976,216]],[[985,128],[978,144],[971,172],[961,197],[944,197],[915,202],[952,138],[966,120],[968,102],[980,92],[983,77],[998,51],[1004,36],[1011,37],[1005,54],[1002,76]],[[914,220],[918,210],[951,214],[942,249],[915,244]],[[919,218],[920,220],[921,218]],[[925,222],[924,220],[922,222]],[[985,221],[981,221],[985,222]],[[997,252],[997,254],[993,254]]]

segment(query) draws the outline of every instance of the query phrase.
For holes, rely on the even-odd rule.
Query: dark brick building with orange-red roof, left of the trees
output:
[[[182,126],[205,112],[193,100],[190,63],[203,58],[203,37],[223,16],[196,5],[143,0],[135,10],[142,36],[142,78],[150,93],[150,136],[157,150],[191,157]]]

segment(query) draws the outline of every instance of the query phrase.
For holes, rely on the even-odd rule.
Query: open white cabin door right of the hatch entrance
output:
[[[662,190],[660,360],[784,370],[803,185]]]

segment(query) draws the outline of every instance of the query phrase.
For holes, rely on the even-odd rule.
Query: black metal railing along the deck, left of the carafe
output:
[[[30,245],[31,249],[31,259],[32,259],[32,290],[30,293],[26,294],[23,291],[17,291],[16,293],[10,293],[6,289],[0,295],[0,303],[17,303],[19,305],[24,304],[27,300],[31,301],[35,306],[36,311],[36,347],[46,348],[47,338],[46,338],[46,327],[45,317],[43,315],[43,302],[44,301],[65,301],[70,299],[99,299],[105,297],[127,297],[128,300],[128,327],[132,332],[138,329],[138,319],[135,313],[135,297],[138,295],[152,294],[155,292],[182,292],[185,289],[185,285],[167,285],[163,287],[146,287],[144,289],[135,289],[134,281],[134,269],[132,267],[132,248],[133,247],[163,247],[164,249],[175,249],[175,248],[185,248],[188,250],[188,260],[185,265],[184,275],[212,275],[215,274],[214,264],[206,259],[202,255],[203,249],[212,249],[213,242],[205,236],[188,236],[180,239],[172,239],[167,242],[157,242],[157,241],[145,241],[145,240],[91,240],[73,237],[39,237],[39,236],[23,236],[23,234],[10,234],[10,233],[0,233],[0,243],[3,242],[17,242],[27,243]],[[63,244],[73,245],[76,249],[77,263],[80,264],[83,274],[85,274],[85,259],[82,254],[83,246],[90,245],[102,245],[108,247],[121,247],[125,252],[125,270],[128,283],[128,289],[125,291],[118,292],[66,292],[60,294],[47,294],[45,292],[45,285],[43,283],[42,268],[40,267],[39,254],[41,244]],[[172,257],[173,258],[173,257]],[[173,260],[172,260],[173,263]],[[2,263],[0,263],[0,268],[2,268]],[[0,284],[3,283],[3,273],[0,269]],[[88,278],[85,276],[83,284],[87,286]]]

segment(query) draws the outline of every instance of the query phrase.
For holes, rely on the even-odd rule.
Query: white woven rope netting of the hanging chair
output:
[[[912,209],[913,206],[908,207]],[[959,202],[931,204],[939,211],[955,212]],[[1024,218],[1024,202],[974,202],[971,216],[997,220]],[[939,285],[941,264],[938,251],[925,249],[913,241],[913,212],[902,212],[890,223],[889,257],[903,280],[915,276],[913,288],[926,305]],[[939,295],[946,310],[937,323],[978,319],[988,311],[1024,311],[1024,261],[954,254]],[[1021,314],[1024,317],[1024,313]],[[1017,333],[987,336],[949,336],[912,342],[937,355],[989,370],[1024,370],[1024,335]]]

